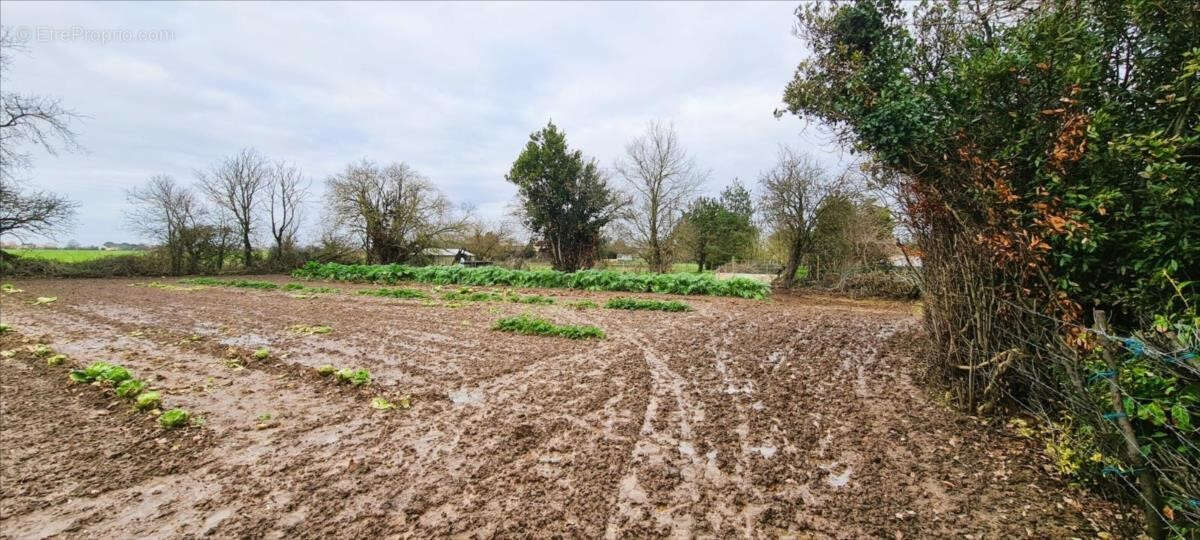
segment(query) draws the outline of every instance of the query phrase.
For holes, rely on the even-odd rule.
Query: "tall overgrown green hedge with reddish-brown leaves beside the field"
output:
[[[1140,473],[1157,475],[1175,516],[1163,524],[1194,535],[1195,365],[1132,350],[1110,365],[1092,358],[1096,336],[1080,330],[1102,308],[1108,334],[1195,354],[1195,2],[857,0],[798,14],[812,54],[785,102],[869,152],[877,178],[902,188],[924,252],[930,358],[943,377],[972,408],[974,385],[991,380],[1028,409],[1069,415],[1105,458],[1139,470],[1140,486],[1153,484]],[[955,367],[1006,350],[1020,355],[1003,370]],[[1117,413],[1141,455],[1103,419],[1112,388],[1081,388],[1090,372],[1115,377],[1127,397]],[[1153,526],[1164,511],[1151,506]]]

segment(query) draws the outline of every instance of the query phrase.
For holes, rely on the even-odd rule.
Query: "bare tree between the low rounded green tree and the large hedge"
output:
[[[787,245],[779,283],[791,287],[800,260],[812,250],[817,210],[852,186],[850,174],[830,178],[810,156],[780,145],[775,167],[758,176],[763,215]]]

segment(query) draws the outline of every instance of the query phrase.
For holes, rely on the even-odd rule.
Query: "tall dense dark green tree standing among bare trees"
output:
[[[545,241],[554,269],[590,268],[600,229],[620,208],[595,161],[571,151],[551,122],[529,136],[505,179],[517,186],[524,224]]]

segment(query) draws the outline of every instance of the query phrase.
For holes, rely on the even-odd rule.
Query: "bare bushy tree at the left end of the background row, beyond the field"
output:
[[[174,178],[160,174],[140,187],[130,188],[125,197],[132,205],[125,215],[130,227],[162,245],[172,274],[182,272],[190,235],[204,216],[196,193]]]

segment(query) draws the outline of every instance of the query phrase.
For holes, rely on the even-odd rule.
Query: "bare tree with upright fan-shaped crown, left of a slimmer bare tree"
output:
[[[222,212],[233,218],[241,236],[242,264],[254,263],[254,218],[259,194],[270,184],[271,168],[254,149],[242,149],[236,155],[212,166],[208,172],[197,170],[200,192]]]

